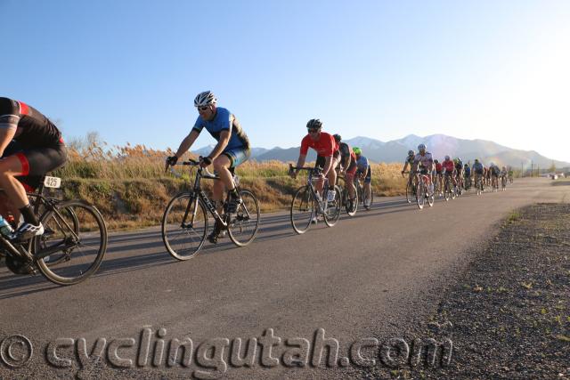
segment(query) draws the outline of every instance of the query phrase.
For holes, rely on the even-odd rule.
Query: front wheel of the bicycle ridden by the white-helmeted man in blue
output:
[[[188,260],[198,254],[208,231],[208,214],[202,201],[184,192],[172,198],[162,217],[162,241],[176,260]]]

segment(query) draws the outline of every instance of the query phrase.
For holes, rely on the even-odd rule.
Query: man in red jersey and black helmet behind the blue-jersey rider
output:
[[[306,124],[308,134],[301,141],[301,150],[297,159],[297,167],[305,165],[305,158],[309,148],[313,148],[317,152],[317,161],[315,164],[322,168],[322,178],[315,183],[315,188],[322,193],[324,185],[324,177],[329,179],[328,200],[335,200],[335,182],[337,182],[337,172],[334,168],[338,165],[338,144],[329,133],[322,132],[322,122],[318,118],[312,118]],[[297,177],[298,169],[291,174],[293,178]]]

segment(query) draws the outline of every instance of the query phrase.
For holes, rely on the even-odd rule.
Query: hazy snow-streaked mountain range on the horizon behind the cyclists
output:
[[[557,167],[568,167],[570,163],[546,158],[534,150],[514,150],[493,141],[485,140],[464,140],[444,134],[432,134],[420,137],[415,134],[405,136],[403,139],[392,141],[379,141],[369,137],[354,137],[344,140],[352,147],[362,149],[362,155],[372,162],[402,162],[407,156],[408,150],[417,150],[420,143],[428,146],[434,158],[443,160],[445,155],[452,158],[459,157],[464,163],[473,163],[475,158],[479,158],[485,165],[491,162],[499,166],[514,166],[530,168],[540,166],[548,168],[554,164]],[[207,155],[214,148],[213,145],[195,150],[198,155]],[[251,159],[256,161],[278,160],[283,162],[297,161],[300,147],[273,149],[252,148]],[[307,162],[314,161],[316,155],[314,150],[309,150]]]

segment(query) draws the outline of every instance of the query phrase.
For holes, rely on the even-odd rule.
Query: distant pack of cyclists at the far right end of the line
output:
[[[416,154],[413,150],[408,151],[408,156],[404,160],[402,176],[409,173],[408,183],[410,188],[414,175],[419,173],[428,175],[429,193],[444,196],[444,183],[449,178],[452,184],[452,192],[461,194],[464,190],[470,190],[473,186],[478,185],[480,191],[485,191],[485,186],[490,186],[493,190],[499,189],[499,179],[501,184],[506,186],[507,181],[513,182],[513,171],[509,167],[495,165],[493,162],[489,166],[483,165],[478,158],[475,159],[473,166],[463,164],[461,158],[451,158],[445,156],[440,162],[432,157],[427,151],[425,144],[418,145],[419,152]],[[408,166],[410,171],[407,172]]]

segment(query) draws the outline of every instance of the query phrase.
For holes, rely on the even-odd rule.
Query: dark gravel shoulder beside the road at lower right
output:
[[[434,315],[406,332],[451,341],[451,360],[440,350],[430,366],[424,352],[414,365],[413,347],[393,348],[400,365],[362,377],[570,379],[570,205],[519,209],[477,251]]]

